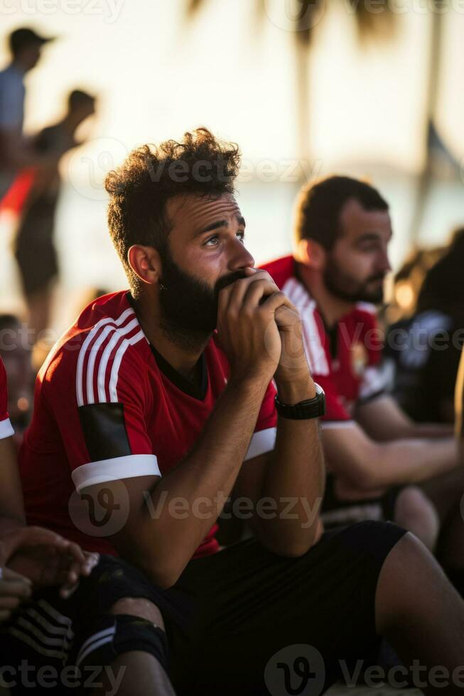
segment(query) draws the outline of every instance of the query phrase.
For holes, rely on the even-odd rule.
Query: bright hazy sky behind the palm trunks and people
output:
[[[395,204],[396,227],[403,236],[394,247],[396,263],[408,246],[404,234],[414,195],[411,175],[419,171],[423,158],[431,19],[425,1],[395,0],[401,11],[395,38],[363,49],[346,0],[325,4],[311,51],[308,171],[370,175],[374,183],[387,187]],[[86,253],[88,244],[95,249],[108,244],[95,241],[106,234],[102,178],[136,144],[178,138],[204,124],[238,142],[252,168],[271,160],[282,171],[288,159],[308,157],[309,153],[298,152],[294,36],[282,21],[283,4],[284,0],[264,0],[266,14],[258,22],[252,0],[210,0],[187,26],[183,0],[0,0],[5,36],[17,26],[33,26],[58,36],[26,78],[27,131],[58,119],[70,89],[81,87],[99,95],[90,143],[74,151],[62,167],[70,189],[81,197],[79,202],[68,192],[65,213],[65,204],[61,205],[61,227],[66,229],[58,231],[58,236],[62,234],[63,242],[63,235],[68,235],[68,256],[70,231],[82,227],[79,218],[89,221]],[[447,10],[438,126],[460,161],[464,155],[464,1],[450,0]],[[1,66],[7,61],[6,45],[0,50]],[[464,221],[463,184],[458,181],[453,186],[452,196],[448,188],[441,196],[438,212],[426,216],[426,232],[433,241],[443,240],[450,224]],[[250,202],[263,196],[260,206],[252,210],[254,221],[261,222],[261,227],[264,220],[274,224],[275,243],[269,253],[263,236],[252,244],[258,260],[291,245],[295,187],[287,186],[284,192],[283,185],[279,189],[261,186],[261,193],[253,196],[248,187]],[[281,196],[278,213],[271,209],[269,196],[273,200]],[[82,252],[84,239],[74,242]],[[104,246],[105,254],[109,249],[109,244]],[[69,259],[66,263],[72,265]],[[111,263],[116,267],[114,256]],[[0,259],[4,276],[10,273],[5,268]],[[77,278],[81,269],[74,272]],[[122,275],[116,277],[119,282]],[[0,290],[6,282],[0,280]]]

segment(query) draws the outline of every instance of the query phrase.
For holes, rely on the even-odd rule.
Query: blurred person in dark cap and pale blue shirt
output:
[[[19,170],[38,168],[47,170],[55,165],[55,153],[38,153],[23,136],[24,75],[36,67],[45,44],[45,38],[31,28],[21,27],[9,35],[10,64],[0,72],[0,205]],[[23,187],[30,185],[30,176]]]

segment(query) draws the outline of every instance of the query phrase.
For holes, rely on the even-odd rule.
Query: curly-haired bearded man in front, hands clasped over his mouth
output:
[[[232,696],[282,692],[303,663],[320,693],[385,634],[406,664],[451,673],[464,604],[423,545],[391,523],[320,533],[323,393],[298,312],[244,244],[238,167],[200,129],[109,174],[130,289],[88,306],[38,376],[28,518],[102,553],[112,611],[77,666],[109,651],[119,695],[168,693],[169,669],[180,694]],[[255,537],[221,550],[227,499]]]

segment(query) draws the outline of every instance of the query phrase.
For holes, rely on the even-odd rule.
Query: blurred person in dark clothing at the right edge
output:
[[[411,288],[411,295],[416,294],[412,311],[389,327],[385,342],[385,355],[395,366],[393,393],[401,408],[416,421],[449,423],[450,428],[464,342],[463,263],[464,229],[457,229],[448,248],[441,249],[438,260],[423,273],[416,293]],[[399,278],[398,293],[406,295],[410,275]]]

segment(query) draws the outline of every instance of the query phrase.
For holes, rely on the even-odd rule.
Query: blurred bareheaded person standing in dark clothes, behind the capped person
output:
[[[80,89],[68,95],[63,119],[43,129],[33,140],[41,156],[65,153],[82,143],[75,132],[83,121],[95,114],[95,97]],[[19,175],[21,177],[21,175]],[[40,342],[50,325],[53,286],[58,278],[58,259],[53,243],[55,212],[60,195],[58,161],[33,179],[23,206],[15,240],[15,256],[24,297],[28,307],[28,325]]]

